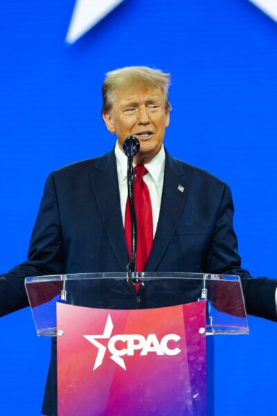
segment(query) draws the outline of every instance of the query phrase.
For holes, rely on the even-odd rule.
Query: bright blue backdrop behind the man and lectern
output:
[[[26,258],[48,173],[114,145],[105,72],[143,64],[172,73],[166,147],[229,183],[243,266],[276,277],[277,24],[247,0],[125,0],[68,45],[73,7],[1,2],[1,272]],[[249,324],[250,336],[216,339],[216,416],[276,413],[276,324]],[[49,340],[29,309],[0,328],[1,414],[39,415]]]

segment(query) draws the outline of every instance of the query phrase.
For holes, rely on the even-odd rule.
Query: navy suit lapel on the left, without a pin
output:
[[[128,263],[114,150],[101,157],[90,175],[94,196],[111,247],[123,271]]]

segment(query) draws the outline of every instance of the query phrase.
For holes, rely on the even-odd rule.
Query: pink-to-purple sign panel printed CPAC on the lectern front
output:
[[[206,414],[205,304],[57,304],[59,416]]]

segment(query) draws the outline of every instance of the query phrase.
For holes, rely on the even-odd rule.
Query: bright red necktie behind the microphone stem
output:
[[[143,175],[148,173],[148,170],[144,165],[137,165],[134,171],[136,173],[134,180],[134,207],[136,209],[138,229],[136,271],[143,272],[153,243],[153,216],[149,189],[143,180]],[[130,258],[132,232],[128,198],[125,211],[125,237]]]

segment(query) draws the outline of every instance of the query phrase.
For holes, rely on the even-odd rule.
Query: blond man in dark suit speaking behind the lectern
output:
[[[144,270],[240,275],[247,312],[277,320],[276,281],[254,279],[241,268],[229,187],[163,148],[169,81],[168,74],[145,67],[107,74],[102,116],[116,134],[116,148],[48,177],[28,261],[0,278],[2,314],[27,306],[24,277],[126,270],[123,142],[134,135],[141,143],[134,163],[148,169],[144,180],[153,215],[154,240]],[[55,415],[55,363],[49,377],[44,413]]]

